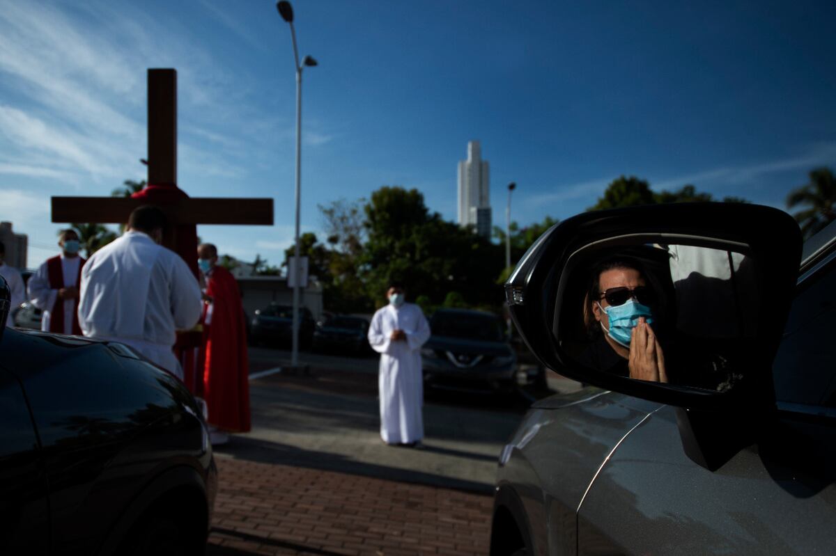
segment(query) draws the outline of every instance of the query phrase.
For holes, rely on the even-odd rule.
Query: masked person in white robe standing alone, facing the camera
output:
[[[421,307],[405,303],[405,292],[392,286],[389,305],[372,317],[369,343],[380,353],[380,437],[387,444],[420,446],[424,437],[424,377],[421,346],[430,326]]]

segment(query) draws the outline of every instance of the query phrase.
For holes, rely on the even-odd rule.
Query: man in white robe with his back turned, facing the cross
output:
[[[125,233],[96,251],[81,272],[79,325],[84,336],[120,341],[183,378],[172,347],[177,330],[201,316],[201,290],[186,261],[161,246],[166,215],[144,205]]]

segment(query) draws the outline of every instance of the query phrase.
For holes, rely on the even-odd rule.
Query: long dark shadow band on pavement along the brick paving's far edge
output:
[[[382,441],[381,441],[382,442]],[[389,447],[390,450],[410,450],[408,447]],[[426,450],[427,448],[425,448]],[[434,448],[441,453],[448,452],[445,448]],[[255,438],[231,437],[230,442],[213,448],[219,457],[235,457],[250,462],[272,463],[335,473],[348,473],[361,477],[382,478],[399,483],[413,483],[429,485],[439,488],[451,488],[468,493],[492,494],[493,485],[478,483],[458,478],[445,477],[434,473],[424,473],[412,469],[392,468],[370,462],[359,462],[333,452],[320,452],[304,448],[289,446],[279,442],[268,442]],[[455,455],[461,455],[456,450]],[[466,452],[464,452],[466,453]],[[482,458],[482,454],[466,453],[467,457]],[[490,457],[495,460],[495,457]]]

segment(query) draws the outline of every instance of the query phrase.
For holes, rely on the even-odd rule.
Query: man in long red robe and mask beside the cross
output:
[[[207,421],[217,431],[212,443],[226,442],[226,432],[250,430],[247,331],[238,283],[229,270],[217,265],[217,248],[197,248],[197,264],[206,277],[203,345],[198,370],[203,375]]]

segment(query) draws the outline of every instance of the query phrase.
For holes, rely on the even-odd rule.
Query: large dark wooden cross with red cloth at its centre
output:
[[[125,224],[141,205],[157,205],[169,229],[163,245],[197,275],[197,224],[273,225],[273,199],[192,198],[177,187],[177,72],[148,70],[148,185],[132,198],[53,197],[53,222]]]

